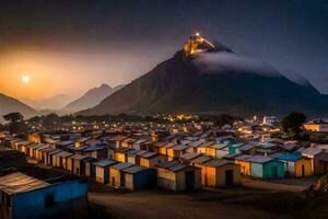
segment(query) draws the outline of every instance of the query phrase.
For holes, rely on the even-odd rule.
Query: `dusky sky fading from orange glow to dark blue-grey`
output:
[[[0,93],[38,100],[126,84],[196,32],[328,93],[326,0],[1,0]]]

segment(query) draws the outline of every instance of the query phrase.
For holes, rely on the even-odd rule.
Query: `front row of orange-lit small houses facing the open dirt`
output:
[[[167,161],[167,157],[163,154],[130,148],[115,152],[113,160],[96,159],[77,151],[73,153],[46,143],[22,140],[15,141],[12,148],[45,165],[131,191],[156,184],[183,192],[198,189],[202,185],[218,187],[241,183],[239,165],[210,157],[206,160],[195,155],[191,159]]]

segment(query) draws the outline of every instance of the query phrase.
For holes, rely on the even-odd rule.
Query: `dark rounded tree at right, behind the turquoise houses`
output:
[[[303,113],[292,112],[282,119],[281,125],[283,131],[292,139],[298,139],[303,131],[302,127],[305,122],[306,116]]]

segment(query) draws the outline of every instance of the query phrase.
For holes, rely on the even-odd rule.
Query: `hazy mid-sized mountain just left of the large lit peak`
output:
[[[109,96],[112,93],[118,91],[124,85],[118,85],[118,87],[112,88],[107,84],[102,84],[98,88],[91,89],[84,95],[82,95],[78,100],[75,100],[75,101],[69,103],[67,106],[65,106],[61,110],[61,112],[69,114],[69,113],[75,113],[78,111],[94,107],[102,100]]]

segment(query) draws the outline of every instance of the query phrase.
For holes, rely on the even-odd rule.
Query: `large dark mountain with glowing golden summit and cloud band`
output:
[[[328,113],[326,96],[294,82],[267,62],[192,36],[183,50],[81,115],[229,113],[308,116]]]

